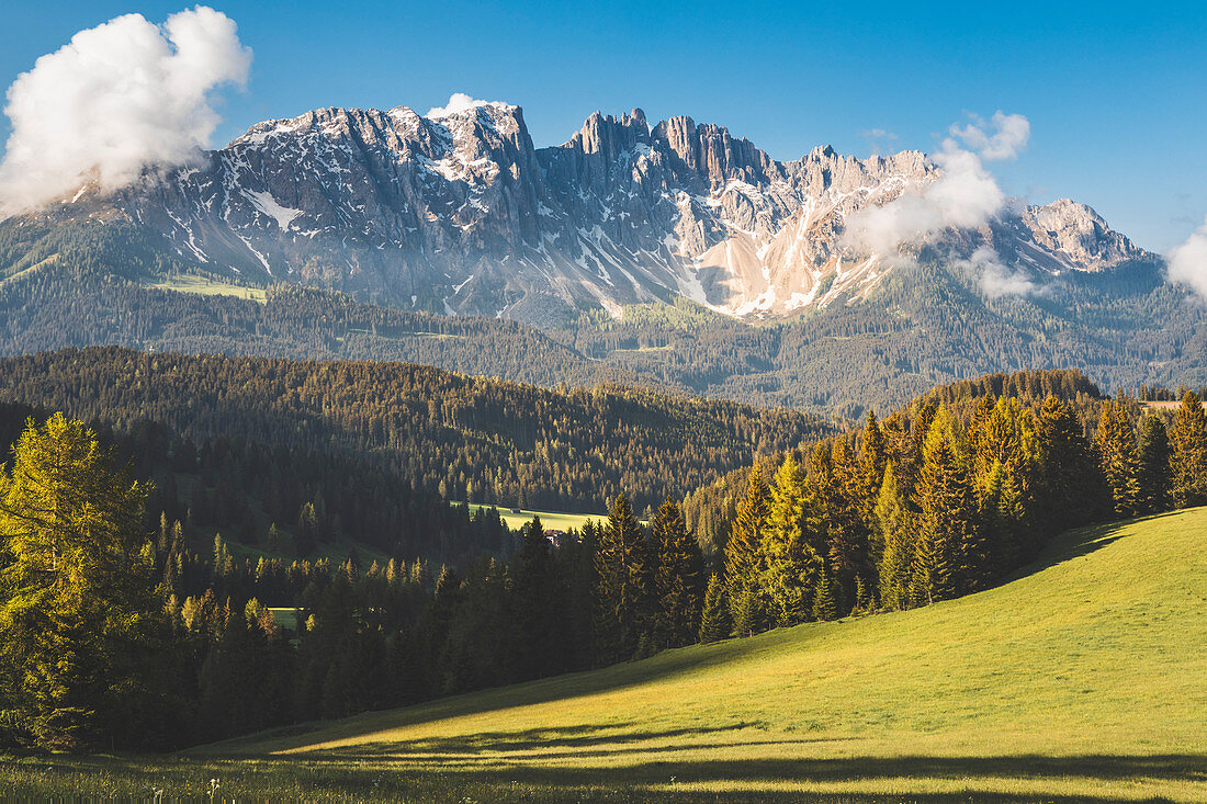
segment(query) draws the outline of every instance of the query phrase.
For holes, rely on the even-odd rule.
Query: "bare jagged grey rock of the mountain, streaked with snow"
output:
[[[651,124],[640,109],[596,112],[543,148],[508,104],[322,109],[39,215],[118,216],[205,272],[404,309],[542,324],[683,296],[779,317],[865,298],[899,260],[852,245],[849,217],[941,175],[917,151],[857,159],[824,146],[779,162],[723,127]],[[989,246],[995,269],[1024,282],[1155,261],[1067,199],[1007,205],[932,246],[952,261]]]

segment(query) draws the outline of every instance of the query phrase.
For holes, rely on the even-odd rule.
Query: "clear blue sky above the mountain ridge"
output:
[[[967,112],[1031,121],[993,167],[1034,202],[1072,197],[1165,250],[1207,214],[1207,4],[210,2],[255,52],[221,105],[225,142],[319,106],[413,106],[453,92],[524,106],[537,146],[591,111],[728,126],[772,157],[818,144],[934,150]],[[181,2],[0,11],[0,83],[121,13]],[[0,128],[5,135],[6,128]]]

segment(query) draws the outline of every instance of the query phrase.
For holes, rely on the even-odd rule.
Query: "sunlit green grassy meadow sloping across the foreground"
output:
[[[154,758],[17,794],[441,802],[1207,800],[1207,508],[1074,531],[1019,579]]]

